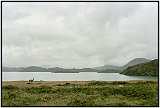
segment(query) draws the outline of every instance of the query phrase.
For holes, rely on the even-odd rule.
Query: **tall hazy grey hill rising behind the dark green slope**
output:
[[[145,59],[145,58],[136,58],[136,59],[133,59],[131,60],[130,62],[128,62],[126,65],[122,66],[120,68],[121,71],[127,69],[129,66],[134,66],[134,65],[137,65],[137,64],[141,64],[141,63],[147,63],[151,60],[148,60],[148,59]]]

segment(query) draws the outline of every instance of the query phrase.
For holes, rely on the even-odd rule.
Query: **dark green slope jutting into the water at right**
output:
[[[123,72],[121,72],[121,74],[158,77],[158,59],[152,60],[147,63],[141,63],[134,66],[130,66]]]

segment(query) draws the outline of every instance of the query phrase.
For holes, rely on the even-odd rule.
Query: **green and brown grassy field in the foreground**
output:
[[[158,106],[158,81],[2,82],[2,106]]]

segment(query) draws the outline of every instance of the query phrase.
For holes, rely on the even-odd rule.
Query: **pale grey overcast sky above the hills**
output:
[[[2,65],[82,68],[158,58],[157,6],[3,2]]]

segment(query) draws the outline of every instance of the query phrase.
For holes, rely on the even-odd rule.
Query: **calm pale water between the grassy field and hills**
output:
[[[2,81],[29,80],[43,81],[126,81],[126,80],[158,80],[150,76],[126,76],[119,73],[51,73],[51,72],[2,72]]]

